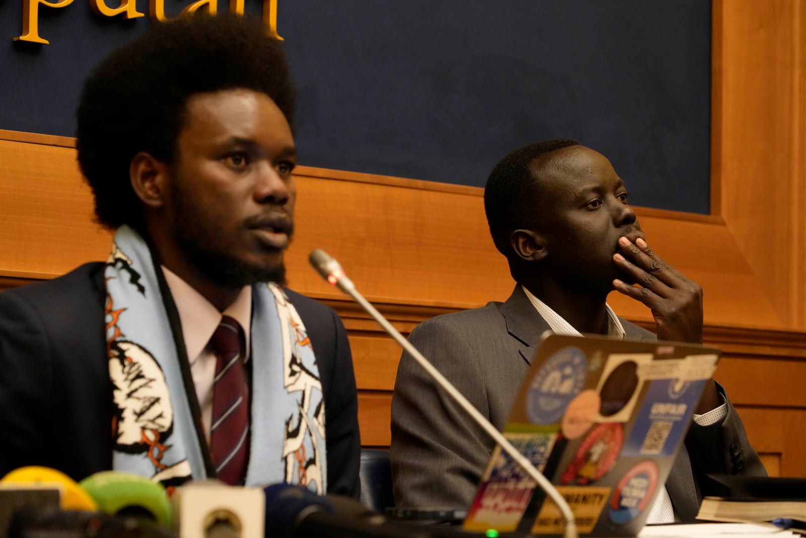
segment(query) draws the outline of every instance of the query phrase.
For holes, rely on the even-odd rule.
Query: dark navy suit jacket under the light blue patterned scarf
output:
[[[0,294],[0,477],[45,465],[81,480],[112,465],[104,265]],[[327,486],[359,494],[359,427],[347,332],[325,305],[286,290],[316,353],[326,410]]]

